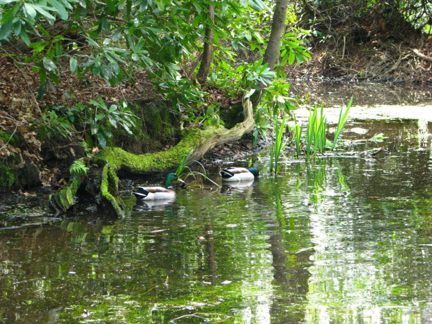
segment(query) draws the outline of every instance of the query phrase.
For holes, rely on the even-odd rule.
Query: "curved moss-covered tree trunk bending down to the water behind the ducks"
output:
[[[249,99],[243,102],[244,120],[233,128],[227,130],[222,125],[209,126],[203,130],[198,128],[186,128],[182,131],[182,139],[173,148],[143,155],[134,155],[123,151],[121,148],[106,148],[95,159],[95,163],[103,165],[100,178],[100,192],[92,192],[100,196],[100,201],[105,206],[108,204],[118,217],[123,217],[124,212],[121,203],[118,202],[118,171],[130,174],[154,174],[176,169],[178,165],[194,151],[190,160],[199,160],[210,149],[229,141],[240,139],[243,134],[251,132],[254,128],[254,116],[252,104]],[[73,196],[77,192],[77,186],[81,184],[78,178],[72,177],[67,188],[50,196],[50,203],[54,209],[65,212],[73,205]]]

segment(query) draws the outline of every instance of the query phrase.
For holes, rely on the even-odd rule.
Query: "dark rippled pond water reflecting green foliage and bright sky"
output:
[[[277,176],[267,151],[236,162],[260,169],[252,185],[164,203],[125,191],[123,219],[89,207],[0,231],[0,321],[432,323],[431,134],[427,120],[353,119],[344,154],[287,153]]]

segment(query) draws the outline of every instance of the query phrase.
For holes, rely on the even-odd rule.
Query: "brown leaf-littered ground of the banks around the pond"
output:
[[[417,52],[416,52],[417,51]],[[419,56],[432,56],[432,38],[412,39],[403,43],[373,43],[350,47],[332,48],[321,44],[311,50],[311,59],[300,65],[286,67],[288,80],[304,82],[343,81],[347,82],[391,82],[396,84],[432,84],[432,62]],[[119,100],[146,100],[157,98],[146,74],[135,76],[135,83],[123,82],[121,86],[110,87],[100,79],[88,77],[86,82],[78,80],[68,72],[68,64],[61,67],[59,85],[56,91],[47,86],[43,98],[38,99],[38,76],[31,68],[19,67],[6,56],[0,57],[0,135],[14,134],[20,146],[12,146],[10,139],[0,136],[0,159],[10,153],[19,153],[31,160],[40,170],[40,180],[44,187],[59,188],[60,177],[54,176],[52,167],[44,162],[47,146],[43,144],[37,129],[31,125],[47,116],[45,107],[69,106],[76,102],[88,103],[97,100],[98,95],[107,102]],[[288,81],[289,82],[289,81]],[[222,93],[215,93],[222,95]],[[303,95],[295,93],[294,95]],[[321,102],[319,94],[311,100]],[[228,102],[228,100],[225,100]],[[75,134],[78,138],[80,134]],[[12,137],[11,137],[12,138]],[[68,146],[70,139],[52,142]],[[47,141],[47,139],[45,139]],[[8,143],[10,142],[10,143]],[[52,143],[52,144],[53,144]],[[208,163],[239,158],[259,151],[266,145],[265,140],[252,147],[250,139],[224,144],[209,151],[203,158]],[[52,145],[51,144],[51,145]],[[48,150],[49,151],[49,150]],[[60,186],[61,187],[61,186]]]

